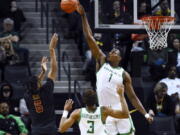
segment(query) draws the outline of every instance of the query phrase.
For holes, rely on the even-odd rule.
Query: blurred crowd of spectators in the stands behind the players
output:
[[[93,26],[93,0],[80,0],[87,12],[89,22]],[[109,24],[130,24],[132,23],[131,11],[126,0],[106,1],[102,7],[102,22]],[[109,6],[112,5],[112,6]],[[132,5],[132,4],[130,4]],[[138,18],[148,15],[169,16],[170,9],[168,1],[164,1],[160,6],[150,10],[149,3],[141,0],[138,10]],[[153,4],[152,4],[153,5]],[[108,6],[108,7],[107,7]],[[110,9],[112,8],[113,9]],[[106,10],[106,11],[103,11]],[[63,18],[68,25],[64,30],[65,39],[74,39],[81,55],[83,72],[86,79],[91,82],[92,87],[96,87],[96,60],[93,59],[91,51],[83,37],[81,18],[74,12],[72,14],[62,13],[54,10],[57,18]],[[109,12],[111,11],[111,12]],[[176,14],[176,22],[178,23]],[[61,23],[61,19],[58,20]],[[23,24],[26,18],[23,11],[18,8],[16,1],[0,1],[0,134],[3,130],[13,135],[26,135],[30,131],[30,118],[25,100],[13,98],[14,87],[11,82],[5,79],[5,69],[7,66],[28,67],[29,74],[29,51],[20,46],[23,39]],[[100,33],[93,32],[97,44],[101,50],[107,54],[112,48],[118,48],[122,52],[123,61],[121,66],[131,73],[132,77],[142,77],[141,74],[134,75],[133,70],[138,65],[132,64],[134,54],[142,54],[142,66],[148,67],[149,76],[145,76],[146,81],[155,82],[152,86],[151,94],[148,95],[146,107],[149,113],[156,117],[172,116],[175,118],[177,132],[180,126],[180,35],[169,34],[168,47],[152,51],[149,49],[147,34],[133,34],[123,32]],[[141,66],[141,65],[140,65]],[[140,67],[139,67],[140,68]],[[19,117],[17,117],[19,116]],[[21,118],[21,119],[20,119]],[[8,121],[8,122],[6,122]],[[6,124],[4,124],[6,123]],[[14,124],[14,127],[12,126]],[[25,124],[23,124],[25,123]]]

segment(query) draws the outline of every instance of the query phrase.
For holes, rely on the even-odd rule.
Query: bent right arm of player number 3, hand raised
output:
[[[115,118],[129,118],[129,109],[124,97],[124,85],[117,86],[117,93],[119,95],[119,102],[121,103],[122,109],[115,110],[109,107],[103,107],[103,116],[106,118],[107,116],[112,116]]]

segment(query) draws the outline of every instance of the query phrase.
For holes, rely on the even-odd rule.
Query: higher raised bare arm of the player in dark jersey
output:
[[[48,78],[55,80],[57,75],[57,61],[56,61],[56,53],[55,48],[58,42],[58,35],[56,33],[53,34],[50,45],[49,45],[49,52],[50,52],[50,71],[48,73]]]

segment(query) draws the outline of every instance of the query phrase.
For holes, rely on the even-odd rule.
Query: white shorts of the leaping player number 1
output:
[[[131,117],[129,119],[107,117],[105,128],[108,135],[134,135],[135,132]]]

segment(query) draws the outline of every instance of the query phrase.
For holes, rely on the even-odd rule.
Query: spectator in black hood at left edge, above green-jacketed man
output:
[[[0,102],[7,102],[10,106],[10,114],[19,115],[19,101],[13,99],[13,87],[10,83],[3,83],[0,88]]]

